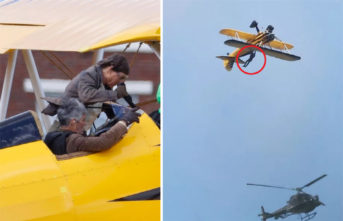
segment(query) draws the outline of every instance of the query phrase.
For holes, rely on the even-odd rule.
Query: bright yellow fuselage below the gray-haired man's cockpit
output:
[[[1,221],[160,220],[160,130],[143,114],[108,151],[57,160],[43,141],[0,150]]]

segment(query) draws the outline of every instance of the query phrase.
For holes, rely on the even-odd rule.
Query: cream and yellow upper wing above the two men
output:
[[[85,52],[161,39],[159,0],[12,0],[0,2],[0,14],[0,53]]]

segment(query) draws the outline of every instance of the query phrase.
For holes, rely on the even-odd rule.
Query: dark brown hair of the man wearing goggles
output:
[[[130,66],[126,58],[119,53],[114,53],[113,55],[98,62],[101,68],[106,68],[113,66],[115,72],[123,72],[124,74],[130,74]]]

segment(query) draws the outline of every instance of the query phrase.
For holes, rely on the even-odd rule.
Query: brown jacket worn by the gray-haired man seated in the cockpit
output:
[[[60,132],[72,132],[69,130],[59,129]],[[127,132],[126,127],[121,123],[116,123],[99,137],[84,137],[81,134],[71,134],[66,139],[67,153],[79,151],[99,152],[110,149],[117,144],[122,136]]]

